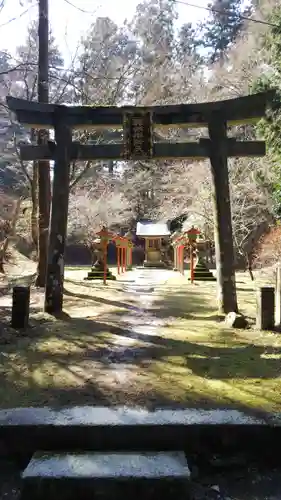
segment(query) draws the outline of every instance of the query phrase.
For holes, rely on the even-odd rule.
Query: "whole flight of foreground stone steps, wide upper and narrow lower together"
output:
[[[0,442],[24,455],[21,500],[188,500],[193,463],[239,453],[246,463],[247,456],[279,457],[281,417],[235,410],[18,408],[0,411]]]

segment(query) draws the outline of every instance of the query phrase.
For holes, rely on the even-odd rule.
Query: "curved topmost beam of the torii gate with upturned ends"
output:
[[[228,125],[255,122],[265,115],[272,92],[260,92],[245,97],[198,104],[176,104],[150,107],[65,106],[42,104],[7,97],[7,104],[20,123],[33,128],[53,128],[60,110],[68,125],[79,128],[122,128],[124,113],[138,111],[151,113],[152,123],[158,127],[205,127],[213,113],[219,113]]]

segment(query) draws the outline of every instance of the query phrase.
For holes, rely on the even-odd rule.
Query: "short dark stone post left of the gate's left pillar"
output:
[[[30,287],[15,286],[13,288],[12,328],[26,328],[29,320]]]

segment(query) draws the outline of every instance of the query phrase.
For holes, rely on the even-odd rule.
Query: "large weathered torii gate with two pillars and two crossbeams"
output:
[[[214,225],[219,309],[237,311],[228,157],[264,156],[262,141],[227,138],[227,126],[253,123],[265,115],[269,93],[201,104],[151,107],[97,107],[39,104],[7,97],[17,120],[37,129],[52,128],[55,141],[20,147],[21,159],[55,160],[49,235],[45,310],[62,310],[64,251],[67,231],[70,162],[74,160],[139,160],[209,158],[214,189]],[[153,142],[159,127],[207,127],[208,139],[198,142]],[[122,143],[82,145],[72,141],[73,129],[114,128]]]

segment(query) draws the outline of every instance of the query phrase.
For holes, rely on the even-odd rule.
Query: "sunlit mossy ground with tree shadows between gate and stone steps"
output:
[[[227,328],[216,312],[215,283],[191,285],[187,276],[170,272],[142,310],[138,294],[123,288],[132,273],[106,287],[83,282],[84,274],[85,269],[67,271],[60,318],[39,312],[42,297],[34,292],[26,332],[5,327],[10,305],[0,304],[1,407],[133,404],[281,411],[280,334]],[[252,323],[255,286],[246,274],[237,275],[240,309]],[[137,318],[142,323],[143,316],[146,322],[136,335]]]

